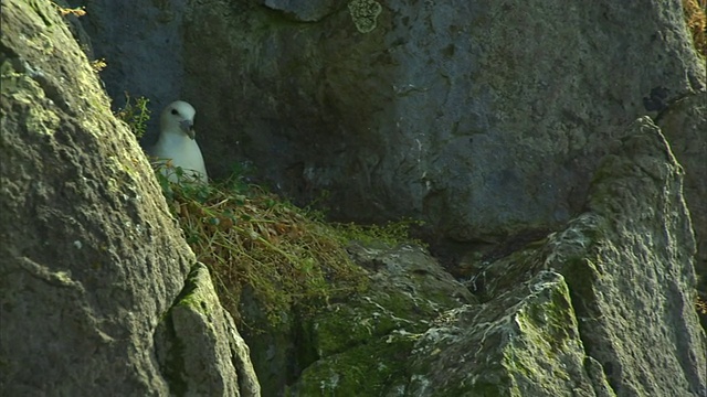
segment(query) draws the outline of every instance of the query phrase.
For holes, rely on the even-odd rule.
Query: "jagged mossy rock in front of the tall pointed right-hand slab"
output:
[[[411,358],[405,396],[597,395],[568,287],[553,271],[444,313]],[[608,388],[604,374],[598,380]]]

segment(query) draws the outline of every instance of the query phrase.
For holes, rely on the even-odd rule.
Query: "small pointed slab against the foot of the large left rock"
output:
[[[196,266],[156,333],[157,360],[184,396],[260,396],[250,350],[219,302],[209,270]],[[232,374],[238,373],[235,377]],[[240,383],[240,384],[239,384]],[[243,390],[243,393],[240,393]]]

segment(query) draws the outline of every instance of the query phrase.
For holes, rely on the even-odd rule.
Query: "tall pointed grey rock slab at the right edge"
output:
[[[625,136],[595,173],[589,212],[544,246],[494,262],[479,283],[490,303],[528,273],[562,273],[587,358],[601,365],[613,394],[704,396],[707,345],[695,312],[683,170],[650,119]],[[585,371],[594,390],[604,389],[591,375],[598,371]]]

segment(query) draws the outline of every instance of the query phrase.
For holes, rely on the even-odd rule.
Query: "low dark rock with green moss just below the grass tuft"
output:
[[[260,352],[253,361],[261,369],[264,395],[282,395],[283,389],[293,396],[384,395],[383,390],[404,384],[405,357],[431,321],[449,309],[475,302],[420,247],[354,244],[349,249],[358,264],[370,269],[370,289],[300,319],[289,337],[295,348],[288,366],[279,362],[282,367],[276,367],[266,360],[271,352],[287,348],[286,344],[252,344]],[[285,373],[289,384],[264,380],[283,380],[278,376]]]

